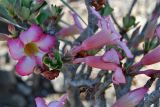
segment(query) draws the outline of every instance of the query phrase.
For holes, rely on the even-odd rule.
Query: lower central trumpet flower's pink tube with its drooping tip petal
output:
[[[102,59],[102,56],[88,56],[85,58],[77,58],[73,61],[73,63],[82,63],[84,62],[90,67],[99,68],[102,70],[112,70],[114,71],[112,76],[112,81],[114,84],[126,83],[125,76],[122,72],[122,69],[114,63],[105,62]]]

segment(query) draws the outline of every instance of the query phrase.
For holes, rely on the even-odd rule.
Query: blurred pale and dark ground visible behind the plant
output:
[[[60,0],[48,0],[56,5],[63,5]],[[128,9],[133,0],[109,0],[111,7],[114,9],[113,14],[120,25],[122,18],[127,14]],[[68,0],[70,6],[73,7],[80,16],[87,22],[87,11],[84,0]],[[132,11],[132,15],[136,17],[136,22],[140,26],[144,26],[150,18],[150,14],[156,5],[156,0],[137,0]],[[63,20],[67,23],[73,23],[69,15],[69,9],[63,6]],[[61,24],[64,26],[63,24]],[[0,33],[8,34],[8,25],[0,22]],[[131,30],[128,33],[132,33]],[[63,43],[61,43],[63,47]],[[140,57],[137,58],[137,61]],[[56,79],[49,81],[40,75],[32,74],[30,76],[18,76],[15,73],[16,61],[10,58],[6,42],[0,41],[0,107],[35,107],[34,98],[37,96],[44,97],[48,102],[58,99],[64,93],[64,79],[60,74]],[[160,69],[158,64],[149,66],[149,68]],[[147,68],[144,68],[147,69]],[[97,69],[95,69],[96,71]],[[96,72],[95,72],[96,74]],[[94,77],[94,74],[92,74]],[[149,78],[144,75],[139,75],[134,78],[132,89],[141,87]],[[155,88],[152,86],[150,92]],[[115,102],[115,93],[113,87],[110,87],[105,92],[108,100],[108,107]],[[84,101],[86,107],[88,104]]]

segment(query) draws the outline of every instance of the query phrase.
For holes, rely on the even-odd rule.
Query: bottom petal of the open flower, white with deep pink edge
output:
[[[16,72],[21,76],[29,75],[36,65],[34,57],[22,57],[16,64]]]

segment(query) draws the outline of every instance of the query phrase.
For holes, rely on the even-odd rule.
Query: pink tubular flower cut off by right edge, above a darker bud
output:
[[[160,45],[153,49],[151,52],[144,55],[144,57],[134,65],[134,68],[137,66],[151,65],[160,62]]]

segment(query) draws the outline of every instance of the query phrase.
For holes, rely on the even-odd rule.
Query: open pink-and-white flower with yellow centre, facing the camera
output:
[[[50,52],[55,40],[54,37],[43,34],[37,25],[32,25],[16,39],[9,39],[7,44],[10,55],[18,60],[16,72],[21,76],[29,75],[36,65],[42,65],[43,55]]]

